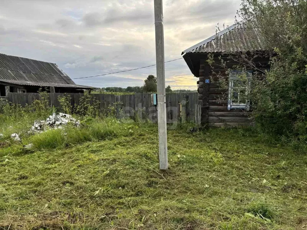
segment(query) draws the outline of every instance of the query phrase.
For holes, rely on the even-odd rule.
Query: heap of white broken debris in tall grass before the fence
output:
[[[56,115],[53,113],[46,119],[46,121],[34,121],[34,125],[31,127],[29,133],[43,132],[50,128],[64,128],[63,126],[68,123],[71,123],[76,127],[80,126],[80,121],[77,121],[69,114],[59,113],[59,115]]]

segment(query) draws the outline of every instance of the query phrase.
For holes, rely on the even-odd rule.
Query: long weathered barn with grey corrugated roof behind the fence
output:
[[[84,93],[94,87],[77,85],[55,63],[0,54],[0,96],[7,93]]]

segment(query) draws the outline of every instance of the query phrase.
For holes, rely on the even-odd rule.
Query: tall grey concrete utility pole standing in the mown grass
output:
[[[159,163],[160,170],[167,170],[167,133],[165,105],[165,71],[164,71],[164,32],[162,0],[154,0],[154,19],[156,29],[156,63],[158,90],[158,128],[159,128]]]

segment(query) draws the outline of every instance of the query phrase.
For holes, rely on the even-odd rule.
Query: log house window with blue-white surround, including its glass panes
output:
[[[251,86],[251,71],[232,71],[229,75],[227,109],[250,109],[248,94]]]

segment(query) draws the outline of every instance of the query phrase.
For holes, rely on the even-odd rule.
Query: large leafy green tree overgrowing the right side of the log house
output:
[[[257,25],[267,50],[239,54],[226,51],[220,57],[221,66],[228,73],[253,71],[249,98],[253,116],[263,130],[306,144],[307,2],[243,0],[238,14],[243,20],[255,22],[247,23],[246,29]],[[270,70],[257,66],[258,57],[269,59]],[[213,66],[212,56],[207,61]],[[227,62],[233,61],[238,64],[227,68]]]

